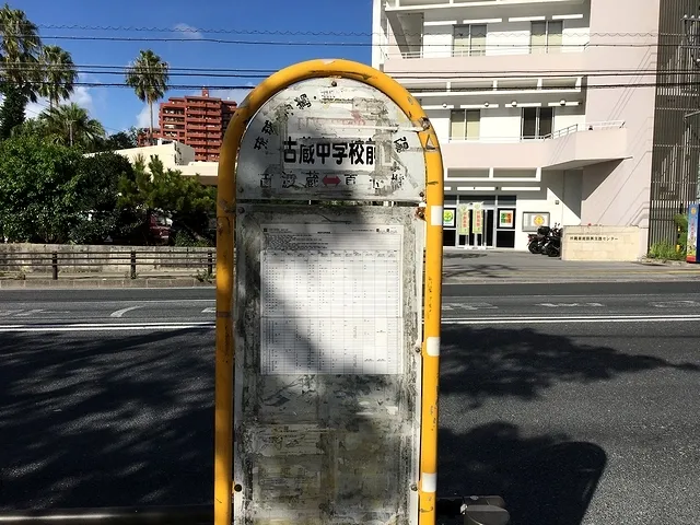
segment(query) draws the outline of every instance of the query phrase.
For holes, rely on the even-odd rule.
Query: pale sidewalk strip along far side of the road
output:
[[[557,283],[557,282],[631,282],[695,281],[700,283],[700,265],[672,261],[586,262],[564,261],[528,252],[465,250],[446,248],[443,262],[445,284],[468,283]],[[57,281],[49,273],[28,273],[19,280],[11,272],[0,276],[5,289],[85,289],[85,288],[195,288],[213,287],[214,280],[198,279],[197,271],[151,270],[137,279],[125,272],[60,273]]]

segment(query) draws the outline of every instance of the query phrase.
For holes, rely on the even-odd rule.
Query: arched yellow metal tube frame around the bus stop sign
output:
[[[435,130],[418,101],[385,73],[350,60],[310,60],[264,80],[238,106],[224,135],[219,160],[217,198],[217,364],[214,421],[214,525],[232,523],[233,494],[233,290],[236,161],[247,122],[262,105],[291,84],[314,78],[338,77],[369,84],[394,101],[422,128],[425,152],[425,283],[422,345],[422,400],[419,524],[435,523],[438,474],[438,388],[442,303],[443,164]]]

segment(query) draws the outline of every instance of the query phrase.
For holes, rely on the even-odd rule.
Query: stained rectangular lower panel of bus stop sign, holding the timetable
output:
[[[408,207],[241,208],[235,523],[413,523],[422,221]]]

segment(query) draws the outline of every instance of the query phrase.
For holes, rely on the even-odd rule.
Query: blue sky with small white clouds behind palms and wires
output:
[[[13,9],[23,10],[39,26],[44,44],[59,45],[71,54],[81,83],[122,84],[124,74],[117,74],[117,68],[122,71],[140,49],[152,49],[172,69],[173,89],[165,98],[199,94],[201,88],[207,86],[210,96],[241,102],[265,77],[299,61],[346,58],[371,63],[372,0],[14,0],[9,3]],[[144,27],[149,31],[133,30]],[[172,40],[158,42],[159,38]],[[229,42],[207,42],[208,38]],[[192,68],[200,71],[191,71]],[[149,124],[148,106],[126,86],[78,85],[71,101],[102,121],[108,133]],[[30,104],[27,118],[46,106],[46,101]],[[156,106],[154,114],[158,126]]]

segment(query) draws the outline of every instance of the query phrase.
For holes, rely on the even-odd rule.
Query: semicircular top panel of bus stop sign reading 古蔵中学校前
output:
[[[419,131],[362,82],[299,82],[250,119],[238,154],[238,198],[419,202],[425,189]]]

